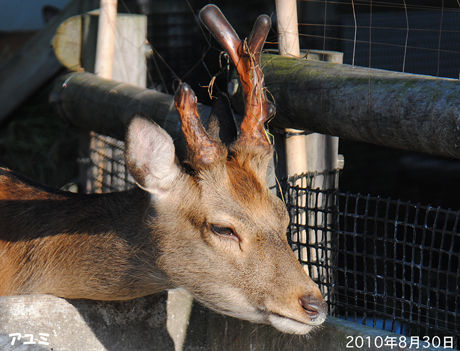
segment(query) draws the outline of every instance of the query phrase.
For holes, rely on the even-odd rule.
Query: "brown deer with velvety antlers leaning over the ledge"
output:
[[[270,18],[241,40],[221,11],[200,18],[236,66],[245,99],[228,145],[203,127],[186,83],[174,97],[187,156],[170,135],[134,115],[125,159],[137,186],[105,194],[47,188],[0,170],[0,295],[130,300],[187,290],[224,315],[308,334],[326,318],[318,286],[287,241],[289,215],[265,181],[274,107],[260,55]]]

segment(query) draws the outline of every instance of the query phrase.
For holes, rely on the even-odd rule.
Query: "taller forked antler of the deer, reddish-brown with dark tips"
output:
[[[273,114],[273,106],[264,92],[264,76],[260,68],[260,53],[270,29],[267,15],[257,18],[249,39],[240,40],[225,16],[215,5],[200,11],[201,21],[224,47],[236,66],[245,96],[245,113],[237,143],[270,149],[264,123]]]

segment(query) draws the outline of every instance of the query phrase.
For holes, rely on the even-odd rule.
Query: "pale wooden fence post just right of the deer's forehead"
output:
[[[283,56],[300,57],[297,0],[277,0],[276,11],[280,54]],[[316,56],[313,53],[310,56],[310,59],[325,60],[324,58],[328,61],[336,60],[342,63],[340,53],[326,55],[325,52],[317,52]],[[286,129],[285,133],[286,173],[288,179],[304,173],[327,172],[337,168],[338,138],[318,133],[307,134],[305,131],[297,129]],[[312,179],[314,180],[314,183],[311,184],[312,187],[320,188],[321,190],[327,190],[336,185],[335,177],[320,175]],[[331,183],[331,180],[333,180],[333,183]],[[297,179],[290,185],[304,188],[307,184],[304,179]],[[308,193],[300,191],[296,192],[294,201],[295,204],[292,205],[300,208],[300,210],[296,211],[296,216],[291,218],[292,224],[297,226],[291,239],[293,242],[300,244],[299,249],[296,250],[296,254],[302,262],[313,264],[308,270],[309,275],[313,279],[327,283],[323,280],[328,279],[329,274],[320,267],[324,267],[324,263],[329,266],[330,262],[322,262],[325,260],[322,257],[322,251],[324,250],[318,250],[317,247],[321,242],[325,242],[326,245],[330,242],[330,232],[326,229],[328,220],[330,221],[330,216],[325,212],[311,213],[308,211],[308,208],[313,208],[313,205],[326,210],[327,204],[325,201],[327,201],[327,196],[319,194],[318,197],[313,199]],[[317,201],[318,203],[313,204],[312,201]],[[321,233],[308,230],[309,223],[310,225],[312,223],[318,224],[318,226],[325,228],[325,230],[321,231]],[[309,249],[306,247],[307,244],[310,247]],[[316,269],[315,264],[317,264]],[[320,287],[323,288],[322,286]],[[324,291],[324,289],[322,290]]]

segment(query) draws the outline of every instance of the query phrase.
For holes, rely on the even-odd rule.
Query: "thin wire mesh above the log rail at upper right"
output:
[[[344,63],[458,78],[457,0],[299,0],[301,47]]]

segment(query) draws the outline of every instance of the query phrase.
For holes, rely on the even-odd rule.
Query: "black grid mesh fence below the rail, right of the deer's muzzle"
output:
[[[460,211],[321,190],[317,175],[300,178],[286,194],[288,237],[329,313],[406,336],[453,337],[458,348]],[[295,201],[302,196],[305,205]],[[302,213],[306,224],[297,221]]]

